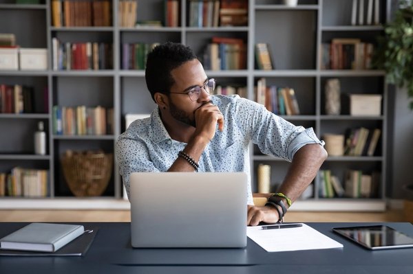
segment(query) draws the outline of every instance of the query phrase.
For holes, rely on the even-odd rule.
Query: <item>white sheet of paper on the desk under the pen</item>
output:
[[[268,252],[309,249],[337,249],[343,244],[302,224],[302,227],[262,230],[260,226],[247,227],[246,236]]]

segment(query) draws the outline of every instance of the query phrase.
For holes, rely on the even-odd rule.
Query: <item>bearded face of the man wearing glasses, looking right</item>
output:
[[[175,80],[175,84],[171,87],[171,92],[173,93],[170,93],[168,96],[169,113],[179,122],[195,127],[195,111],[203,104],[209,102],[210,97],[209,94],[202,89],[200,98],[192,101],[189,95],[187,95],[187,91],[189,91],[191,87],[203,86],[207,80],[207,74],[205,74],[201,63],[197,59],[194,59],[173,69],[171,76]]]

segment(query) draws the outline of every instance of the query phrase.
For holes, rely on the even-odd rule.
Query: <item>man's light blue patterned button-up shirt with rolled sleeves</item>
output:
[[[292,161],[306,144],[321,144],[313,128],[294,126],[267,111],[262,104],[238,95],[211,96],[224,115],[224,131],[217,129],[200,157],[199,172],[246,172],[248,204],[253,204],[249,144],[253,141],[267,155]],[[166,172],[186,143],[169,137],[156,108],[151,116],[138,119],[116,141],[116,160],[129,196],[131,172]]]

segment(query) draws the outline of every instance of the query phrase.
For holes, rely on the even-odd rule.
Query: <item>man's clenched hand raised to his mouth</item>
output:
[[[224,130],[224,116],[218,106],[208,102],[195,110],[195,135],[211,141],[215,136],[217,124],[220,131]]]

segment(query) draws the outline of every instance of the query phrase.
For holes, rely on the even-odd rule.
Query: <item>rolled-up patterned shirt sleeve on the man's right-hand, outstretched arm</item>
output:
[[[254,144],[266,155],[293,161],[295,152],[306,144],[320,144],[313,128],[304,128],[267,111],[262,104],[240,100],[238,106],[240,125],[251,134]]]

